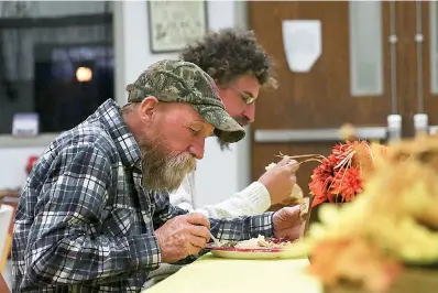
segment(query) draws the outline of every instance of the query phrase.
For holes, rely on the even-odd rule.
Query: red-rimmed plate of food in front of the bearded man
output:
[[[221,241],[220,246],[208,243],[211,254],[226,259],[294,259],[307,256],[306,246],[300,240],[265,238],[259,236],[242,241]]]

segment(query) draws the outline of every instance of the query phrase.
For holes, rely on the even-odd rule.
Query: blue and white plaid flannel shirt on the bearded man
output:
[[[187,211],[141,186],[140,159],[111,99],[51,143],[17,210],[13,292],[141,290],[161,262],[154,230]],[[220,239],[272,236],[272,213],[210,223]]]

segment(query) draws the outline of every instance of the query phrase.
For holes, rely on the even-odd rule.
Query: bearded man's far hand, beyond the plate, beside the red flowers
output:
[[[275,238],[287,238],[291,241],[298,239],[303,225],[303,209],[300,205],[284,207],[273,217]]]

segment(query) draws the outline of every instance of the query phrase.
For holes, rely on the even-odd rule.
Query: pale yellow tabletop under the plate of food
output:
[[[226,259],[211,252],[142,293],[322,293],[307,258]]]

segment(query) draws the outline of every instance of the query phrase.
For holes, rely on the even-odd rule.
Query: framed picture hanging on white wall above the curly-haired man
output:
[[[207,1],[147,1],[152,53],[178,52],[208,30]]]

